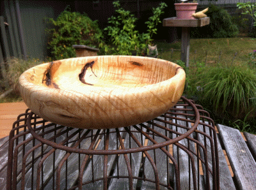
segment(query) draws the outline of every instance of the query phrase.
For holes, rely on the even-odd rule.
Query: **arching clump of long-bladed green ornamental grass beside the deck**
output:
[[[255,117],[256,73],[246,66],[217,66],[198,75],[201,97],[212,105],[216,115],[243,119]],[[253,110],[253,111],[252,111]]]

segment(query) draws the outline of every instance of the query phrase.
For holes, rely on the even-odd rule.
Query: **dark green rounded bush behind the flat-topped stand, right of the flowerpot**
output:
[[[193,29],[193,38],[230,38],[239,34],[238,27],[227,10],[211,4],[206,14],[211,18],[210,24]]]

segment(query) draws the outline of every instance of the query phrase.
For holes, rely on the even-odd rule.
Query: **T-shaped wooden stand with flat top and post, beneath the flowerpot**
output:
[[[189,66],[189,40],[190,27],[202,27],[210,24],[210,18],[200,19],[179,19],[176,17],[164,18],[163,26],[166,27],[182,27],[181,34],[181,61],[185,62],[186,67]]]

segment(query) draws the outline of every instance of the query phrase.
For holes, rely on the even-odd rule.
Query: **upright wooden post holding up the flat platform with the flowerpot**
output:
[[[185,62],[186,67],[189,67],[189,41],[190,41],[190,34],[189,34],[189,27],[182,27],[182,34],[181,34],[181,61]]]

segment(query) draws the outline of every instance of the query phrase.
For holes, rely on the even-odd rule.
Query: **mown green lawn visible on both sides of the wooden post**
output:
[[[234,58],[233,63],[244,64],[248,62],[248,54],[256,49],[255,43],[255,38],[191,39],[189,65],[206,61],[206,64],[216,66],[233,62]],[[180,41],[172,44],[156,41],[156,44],[160,59],[172,62],[180,59]]]

